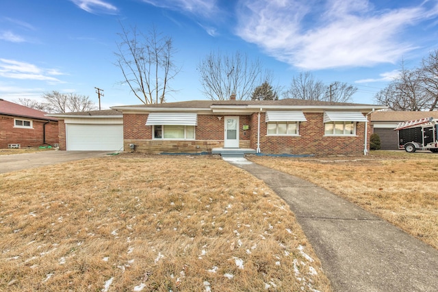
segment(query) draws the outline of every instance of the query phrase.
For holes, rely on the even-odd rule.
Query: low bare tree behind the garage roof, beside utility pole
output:
[[[92,111],[96,105],[86,95],[75,93],[60,93],[56,90],[44,93],[42,98],[51,106],[51,112],[66,113],[79,111]]]

